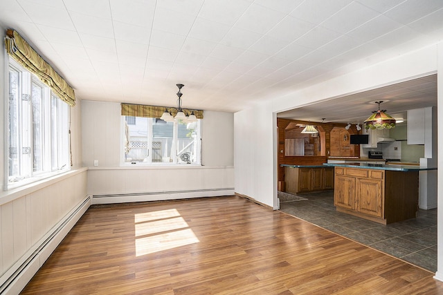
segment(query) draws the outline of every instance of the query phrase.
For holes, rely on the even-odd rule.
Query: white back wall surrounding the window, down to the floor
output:
[[[93,195],[93,203],[234,193],[232,113],[204,112],[201,135],[204,166],[120,167],[123,136],[120,120],[119,103],[82,102],[82,155],[84,166],[89,166],[87,192]],[[99,166],[93,166],[94,160],[98,160]]]

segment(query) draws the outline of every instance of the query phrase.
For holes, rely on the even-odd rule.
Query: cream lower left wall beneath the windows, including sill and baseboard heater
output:
[[[18,294],[91,204],[87,169],[3,192],[0,294]],[[20,193],[21,192],[21,193]]]

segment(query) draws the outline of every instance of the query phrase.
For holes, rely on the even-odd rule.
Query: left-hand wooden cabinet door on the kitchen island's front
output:
[[[355,178],[336,175],[334,205],[346,209],[355,209]]]

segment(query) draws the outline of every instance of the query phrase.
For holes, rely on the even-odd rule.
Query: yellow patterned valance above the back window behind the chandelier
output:
[[[123,116],[160,118],[165,112],[165,109],[168,110],[172,116],[177,114],[177,108],[167,106],[145,106],[143,104],[121,104],[121,106]],[[186,115],[190,115],[192,112],[194,112],[197,119],[203,119],[203,111],[183,108],[183,113]]]

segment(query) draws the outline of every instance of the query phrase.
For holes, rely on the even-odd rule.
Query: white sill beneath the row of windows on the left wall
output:
[[[23,196],[28,195],[29,193],[33,193],[34,191],[38,191],[39,189],[43,189],[44,187],[48,187],[55,182],[59,182],[66,178],[69,178],[75,174],[82,173],[87,171],[87,167],[78,167],[75,169],[71,169],[64,173],[60,173],[57,175],[50,176],[48,178],[44,178],[42,180],[37,180],[35,182],[31,182],[29,184],[24,184],[20,187],[16,187],[14,189],[8,189],[8,191],[0,191],[0,206],[2,204],[6,204],[15,200],[17,198],[21,198]]]

